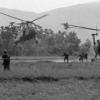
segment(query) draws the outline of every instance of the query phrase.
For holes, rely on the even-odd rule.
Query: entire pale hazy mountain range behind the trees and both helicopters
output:
[[[65,22],[73,25],[91,28],[96,28],[97,26],[100,29],[100,2],[63,7],[40,14],[4,8],[1,8],[0,11],[26,20],[32,20],[43,14],[48,14],[49,16],[36,21],[36,23],[41,25],[43,28],[52,28],[55,32],[57,32],[58,30],[65,31],[63,26],[61,25]],[[8,22],[11,21],[15,20],[4,15],[0,15],[0,25],[6,23],[8,24]],[[95,33],[95,31],[84,29],[69,29],[68,31],[70,30],[77,32],[79,38],[81,38],[82,41],[84,41],[86,38],[91,39],[91,34]],[[99,37],[100,36],[98,36],[98,38]]]

